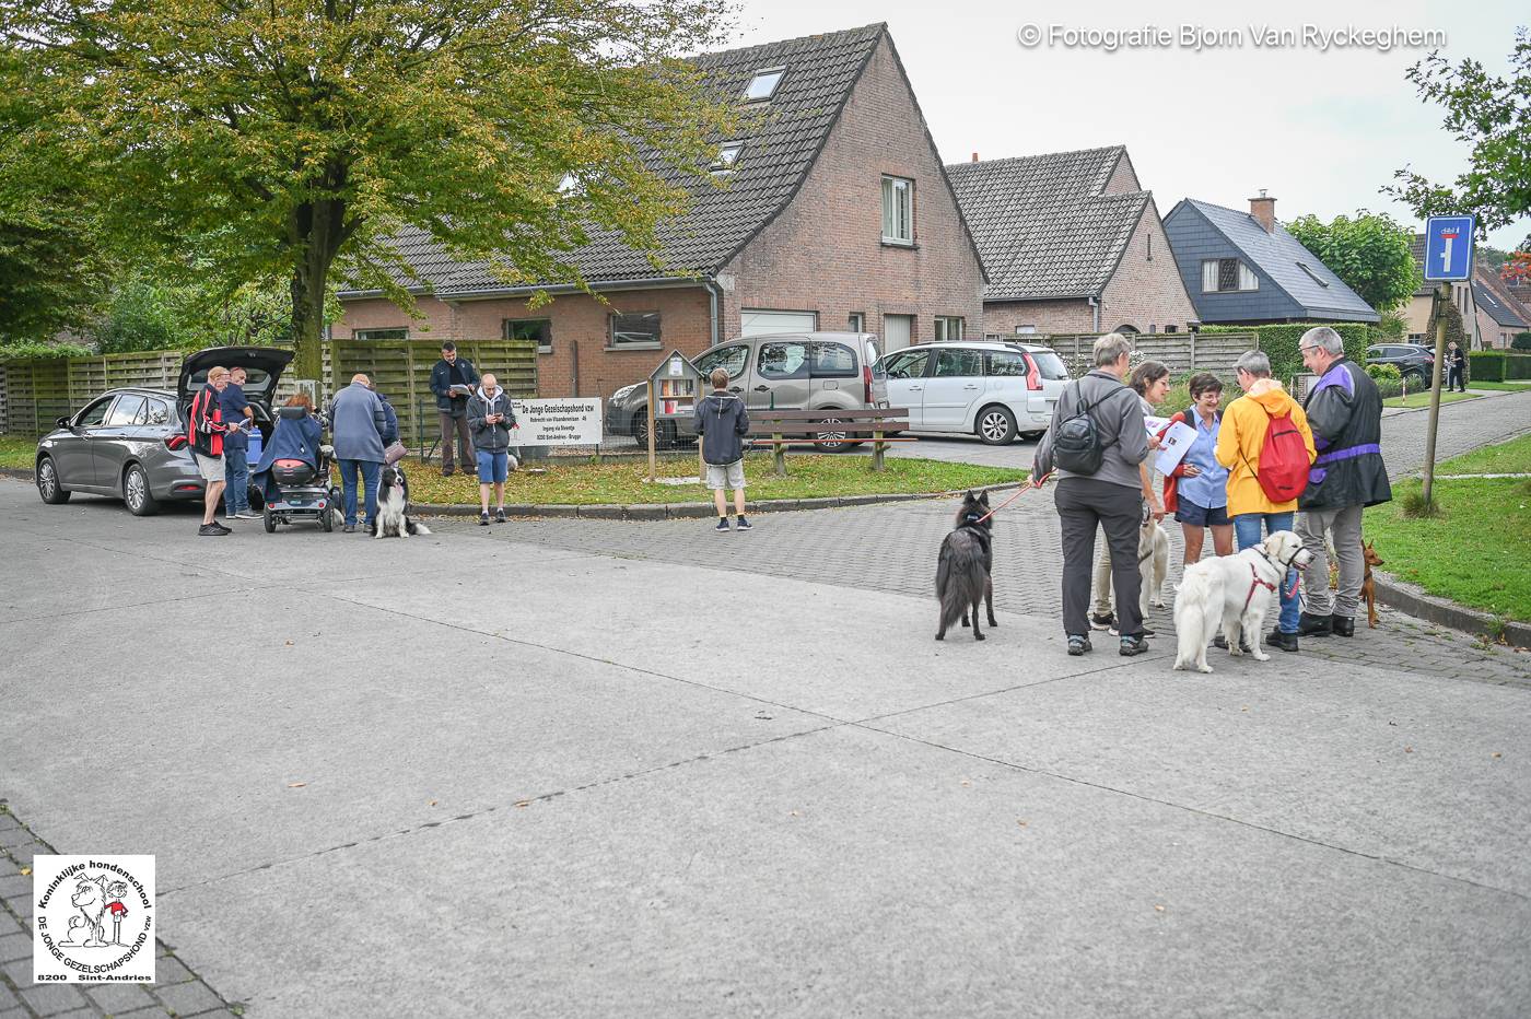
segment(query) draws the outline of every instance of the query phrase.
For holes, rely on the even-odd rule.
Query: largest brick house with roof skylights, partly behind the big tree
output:
[[[707,54],[712,86],[766,113],[718,139],[729,187],[692,182],[692,208],[649,259],[596,237],[574,263],[603,306],[545,285],[507,286],[453,262],[421,231],[397,239],[426,282],[423,320],[377,292],[343,291],[335,337],[534,337],[544,396],[605,396],[672,347],[741,334],[863,330],[888,349],[981,332],[983,268],[885,24]],[[481,366],[493,367],[493,366]]]

